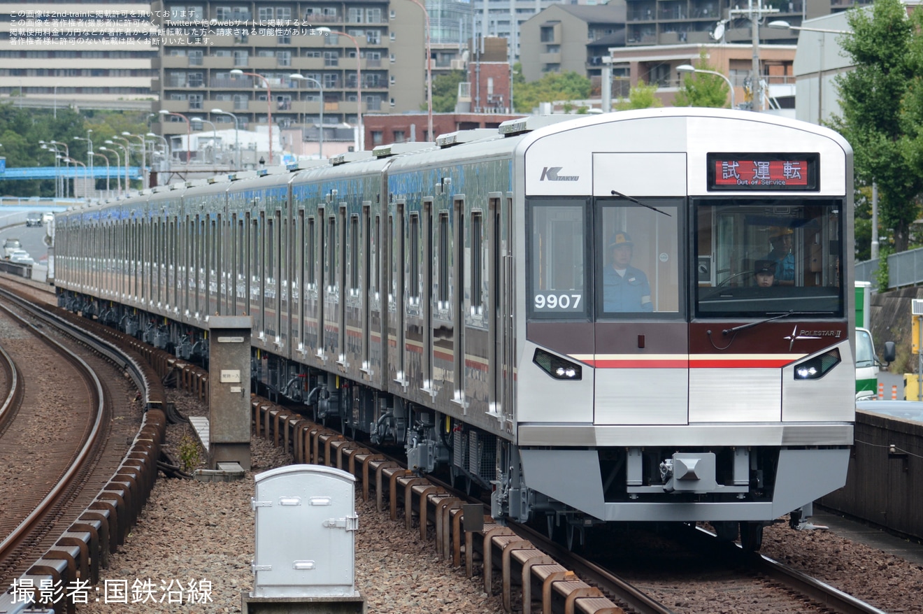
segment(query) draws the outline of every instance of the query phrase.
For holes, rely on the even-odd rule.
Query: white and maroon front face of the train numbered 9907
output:
[[[495,514],[545,512],[570,539],[706,521],[759,548],[764,524],[845,484],[845,140],[764,114],[625,112],[536,131],[515,165],[519,458]]]

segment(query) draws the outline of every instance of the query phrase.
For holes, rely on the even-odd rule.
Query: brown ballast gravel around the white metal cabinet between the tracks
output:
[[[198,401],[169,391],[183,415],[205,415]],[[192,437],[186,425],[167,428],[179,458]],[[80,614],[123,612],[240,612],[241,593],[253,590],[254,475],[291,464],[291,456],[265,439],[250,442],[252,471],[236,482],[198,482],[159,476],[126,543],[110,559],[100,583],[77,605]],[[500,596],[487,596],[483,577],[469,579],[436,554],[431,541],[406,531],[403,521],[378,512],[374,499],[355,512],[355,588],[368,614],[500,614]],[[400,525],[399,525],[400,524]],[[282,531],[296,527],[281,527]],[[204,583],[203,583],[204,581]],[[190,590],[191,589],[191,590]]]

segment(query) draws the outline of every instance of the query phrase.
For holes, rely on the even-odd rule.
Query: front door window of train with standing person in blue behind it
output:
[[[597,319],[680,315],[683,201],[635,200],[596,201]]]

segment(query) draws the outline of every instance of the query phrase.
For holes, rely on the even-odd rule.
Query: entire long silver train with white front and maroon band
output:
[[[529,117],[66,211],[55,283],[188,359],[210,314],[252,316],[258,387],[489,489],[497,518],[759,548],[845,484],[852,211],[822,127]]]

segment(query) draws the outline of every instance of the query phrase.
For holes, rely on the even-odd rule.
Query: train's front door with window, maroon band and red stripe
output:
[[[687,424],[686,155],[596,154],[593,175],[607,182],[596,193],[612,193],[592,210],[593,421]]]

